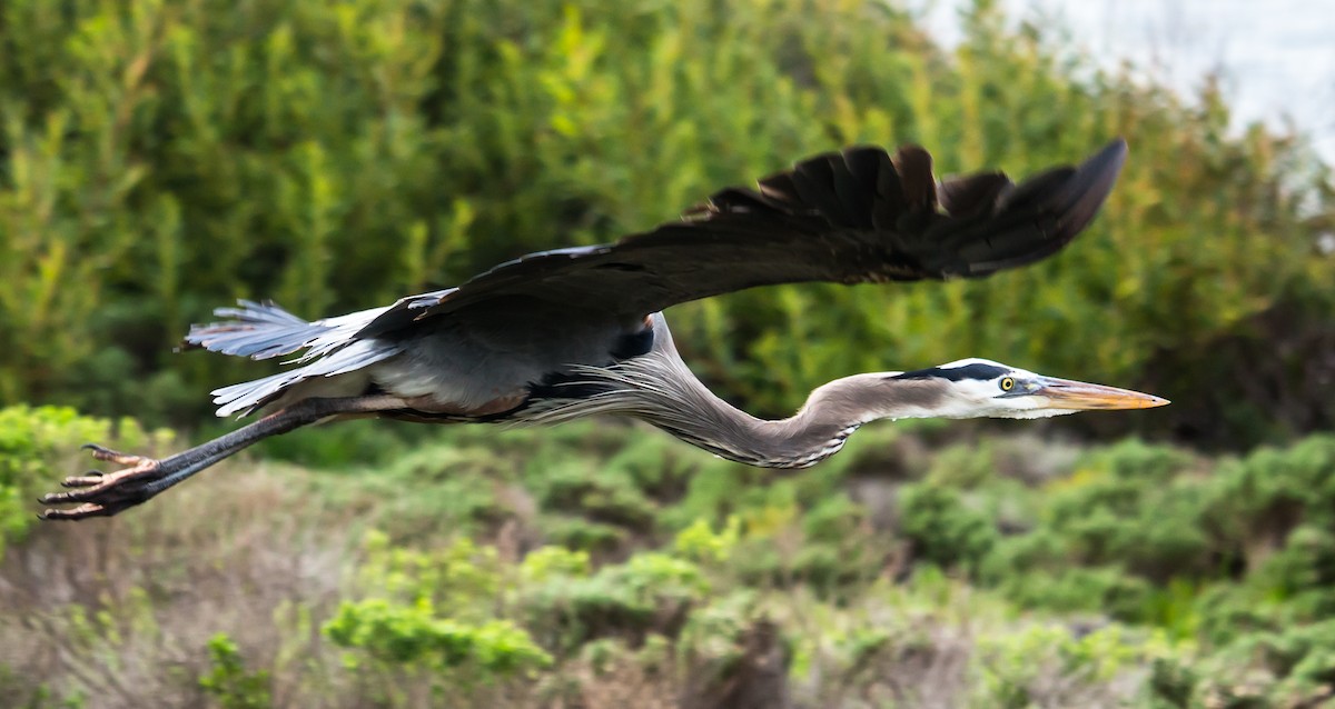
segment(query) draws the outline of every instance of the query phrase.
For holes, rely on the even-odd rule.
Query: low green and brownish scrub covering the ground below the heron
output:
[[[23,480],[65,465],[41,441],[107,432],[71,412],[3,416]],[[7,596],[45,605],[0,617],[0,642],[59,638],[87,669],[13,665],[0,686],[36,706],[140,677],[232,706],[570,704],[593,686],[728,705],[786,686],[813,705],[910,688],[906,702],[1157,708],[1302,706],[1331,686],[1330,436],[1240,458],[861,436],[782,476],[599,422],[450,429],[374,474],[234,466],[183,489],[180,510],[117,520],[123,544],[35,564],[63,537],[19,540],[0,573],[52,570],[5,588],[52,598]],[[590,530],[597,544],[571,544]],[[124,570],[71,570],[81,553]],[[179,629],[199,617],[188,604],[255,594],[276,605],[210,618],[226,636],[174,674],[143,669],[199,637]]]

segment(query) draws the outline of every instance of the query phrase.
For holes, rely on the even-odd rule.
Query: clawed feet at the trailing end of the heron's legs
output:
[[[93,444],[88,444],[84,448],[92,450],[92,457],[97,460],[115,462],[125,468],[113,473],[89,470],[81,476],[67,477],[61,485],[73,489],[45,494],[41,497],[41,502],[45,505],[77,502],[77,505],[69,509],[47,509],[41,513],[43,520],[109,517],[123,509],[144,502],[160,492],[147,489],[147,486],[167,474],[163,470],[162,461],[120,453]]]

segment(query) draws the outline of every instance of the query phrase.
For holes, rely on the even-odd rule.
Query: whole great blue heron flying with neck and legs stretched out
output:
[[[834,380],[790,418],[764,421],[705,388],[673,347],[669,305],[757,285],[977,277],[1057,252],[1093,219],[1125,160],[1116,140],[1079,167],[1015,185],[1000,172],[937,183],[918,147],[821,155],[718,192],[685,219],[610,245],[547,251],[458,288],[307,323],[272,303],[215,311],[187,347],[282,373],[214,392],[219,416],[271,413],[152,460],[89,445],[124,468],[64,481],[48,520],[108,516],[270,436],[335,418],[546,424],[590,414],[647,421],[725,458],[805,468],[862,424],[906,417],[1037,418],[1167,401],[988,360]],[[801,347],[793,343],[793,347]]]

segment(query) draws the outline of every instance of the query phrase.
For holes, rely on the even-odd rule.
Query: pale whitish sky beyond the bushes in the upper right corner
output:
[[[1133,60],[1191,95],[1218,71],[1235,123],[1294,124],[1335,163],[1335,0],[1000,0],[1047,17],[1115,67]],[[959,41],[967,0],[910,0],[932,32]]]

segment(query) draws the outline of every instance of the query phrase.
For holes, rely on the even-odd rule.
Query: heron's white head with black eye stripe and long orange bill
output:
[[[995,362],[959,360],[929,369],[885,374],[900,410],[890,416],[945,418],[1045,418],[1081,410],[1148,409],[1167,398],[1085,384]],[[905,408],[906,406],[906,408]]]

